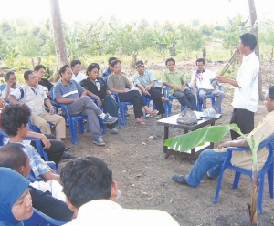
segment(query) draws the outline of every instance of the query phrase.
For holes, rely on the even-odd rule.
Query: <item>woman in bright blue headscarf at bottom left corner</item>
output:
[[[23,225],[33,214],[29,180],[15,170],[0,168],[0,225]]]

